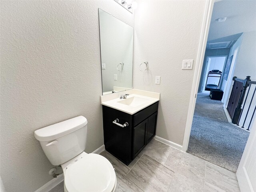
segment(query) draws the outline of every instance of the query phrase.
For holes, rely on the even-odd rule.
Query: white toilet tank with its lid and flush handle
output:
[[[48,160],[60,165],[82,153],[86,147],[87,119],[78,116],[34,132]]]

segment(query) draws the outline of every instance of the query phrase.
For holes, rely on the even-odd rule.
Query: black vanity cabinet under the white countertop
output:
[[[128,165],[156,135],[158,102],[131,115],[108,106],[103,107],[103,130],[106,151]],[[113,123],[118,118],[120,127]]]

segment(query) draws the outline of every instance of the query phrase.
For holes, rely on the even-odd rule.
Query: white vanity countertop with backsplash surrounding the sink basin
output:
[[[126,99],[132,98],[132,97],[139,97],[142,99],[144,98],[145,101],[142,102],[142,104],[139,104],[136,106],[129,106],[126,104],[122,104],[120,103],[120,101],[125,99],[120,99],[120,94],[126,94],[126,93],[130,94],[127,96]],[[118,92],[110,95],[100,96],[100,103],[102,105],[120,110],[122,112],[126,112],[131,115],[146,108],[147,106],[150,106],[151,104],[159,100],[160,100],[160,93],[137,90],[137,89],[131,89],[131,90],[126,90],[126,91],[122,91],[122,92]]]

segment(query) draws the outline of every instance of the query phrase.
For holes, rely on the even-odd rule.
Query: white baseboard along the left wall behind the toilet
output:
[[[104,150],[105,150],[105,145],[102,145],[92,153],[100,154]],[[57,178],[53,178],[52,180],[44,184],[42,187],[38,188],[35,192],[49,192],[58,184],[60,184],[62,181],[64,181],[63,173],[60,174]]]

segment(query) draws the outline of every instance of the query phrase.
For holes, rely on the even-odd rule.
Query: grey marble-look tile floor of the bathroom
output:
[[[101,155],[115,167],[116,192],[240,192],[235,173],[154,139],[129,166]],[[50,192],[64,192],[63,182]]]

